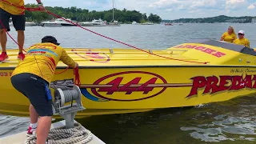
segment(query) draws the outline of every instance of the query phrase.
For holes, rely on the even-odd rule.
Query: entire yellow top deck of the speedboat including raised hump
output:
[[[254,66],[256,64],[254,49],[213,40],[184,43],[166,50],[137,50],[134,48],[65,48],[65,50],[75,62],[78,62],[79,66],[88,68]],[[7,50],[7,53],[9,60],[3,62],[0,69],[14,69],[18,65],[18,50]],[[66,68],[66,65],[58,62],[58,68]]]

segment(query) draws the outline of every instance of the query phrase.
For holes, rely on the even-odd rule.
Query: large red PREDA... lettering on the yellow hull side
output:
[[[210,94],[215,94],[217,92],[224,90],[241,90],[244,88],[256,88],[256,75],[246,75],[245,78],[243,78],[240,75],[219,76],[219,78],[216,76],[210,76],[207,78],[203,76],[198,76],[191,79],[193,80],[193,86],[187,98],[193,95],[197,95],[198,89],[201,88],[204,88],[202,94],[208,94],[210,92]]]

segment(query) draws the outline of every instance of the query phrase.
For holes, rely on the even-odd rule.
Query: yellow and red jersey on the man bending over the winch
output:
[[[38,43],[31,46],[26,54],[26,58],[18,64],[12,76],[21,73],[38,75],[51,82],[54,78],[54,71],[59,61],[67,66],[75,67],[75,62],[61,47],[50,42]]]

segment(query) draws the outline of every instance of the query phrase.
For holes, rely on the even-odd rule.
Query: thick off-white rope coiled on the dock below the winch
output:
[[[85,144],[92,140],[93,134],[80,123],[75,122],[74,128],[66,129],[65,126],[50,130],[46,144]],[[34,133],[26,138],[26,144],[36,144],[37,137]]]

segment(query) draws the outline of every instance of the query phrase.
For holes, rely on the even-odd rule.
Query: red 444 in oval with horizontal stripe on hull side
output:
[[[191,86],[191,84],[189,84]],[[93,101],[140,101],[162,94],[167,87],[186,84],[169,84],[162,76],[143,71],[126,71],[106,75],[93,85],[82,85],[82,94]],[[88,89],[91,90],[90,94]],[[93,95],[94,94],[94,95]]]

